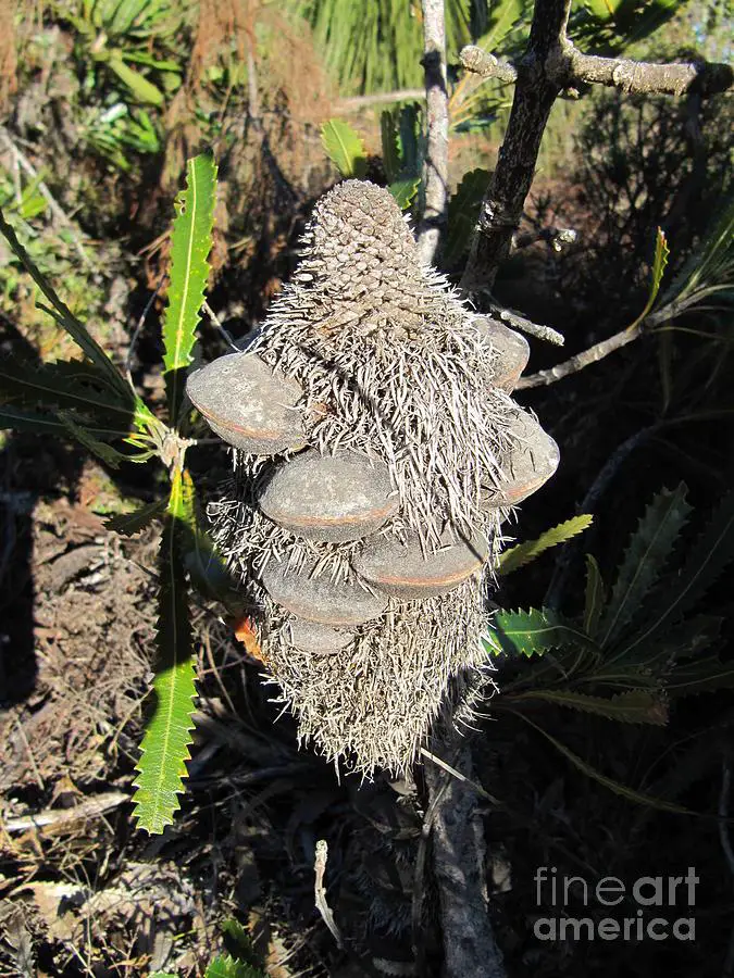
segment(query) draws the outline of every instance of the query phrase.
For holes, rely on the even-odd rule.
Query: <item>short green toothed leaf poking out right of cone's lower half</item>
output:
[[[577,625],[549,607],[497,612],[483,641],[492,655],[542,655],[565,645],[596,648]]]

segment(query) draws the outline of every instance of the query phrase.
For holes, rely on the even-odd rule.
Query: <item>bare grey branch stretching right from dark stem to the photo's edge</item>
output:
[[[686,92],[711,96],[734,84],[734,71],[727,64],[705,61],[651,64],[626,58],[598,58],[583,54],[571,41],[565,42],[561,58],[548,65],[548,74],[561,88],[590,83],[609,85],[625,92],[673,96]]]

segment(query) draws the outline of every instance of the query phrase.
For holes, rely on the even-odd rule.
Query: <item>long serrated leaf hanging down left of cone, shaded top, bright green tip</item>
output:
[[[174,473],[160,550],[154,710],[140,745],[133,799],[138,826],[157,835],[181,806],[194,729],[196,677],[181,531],[185,516],[181,473]]]

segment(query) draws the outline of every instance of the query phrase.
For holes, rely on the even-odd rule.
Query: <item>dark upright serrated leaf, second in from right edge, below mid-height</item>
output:
[[[647,506],[637,529],[630,538],[609,604],[599,625],[602,648],[609,645],[622,631],[660,579],[691,513],[686,492],[684,482],[673,492],[662,489]]]

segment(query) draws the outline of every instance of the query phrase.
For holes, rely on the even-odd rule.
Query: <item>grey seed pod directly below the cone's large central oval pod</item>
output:
[[[270,597],[291,615],[351,628],[378,618],[387,599],[365,590],[353,579],[332,580],[327,575],[310,576],[312,567],[291,570],[286,563],[271,561],[262,573],[262,585]]]

